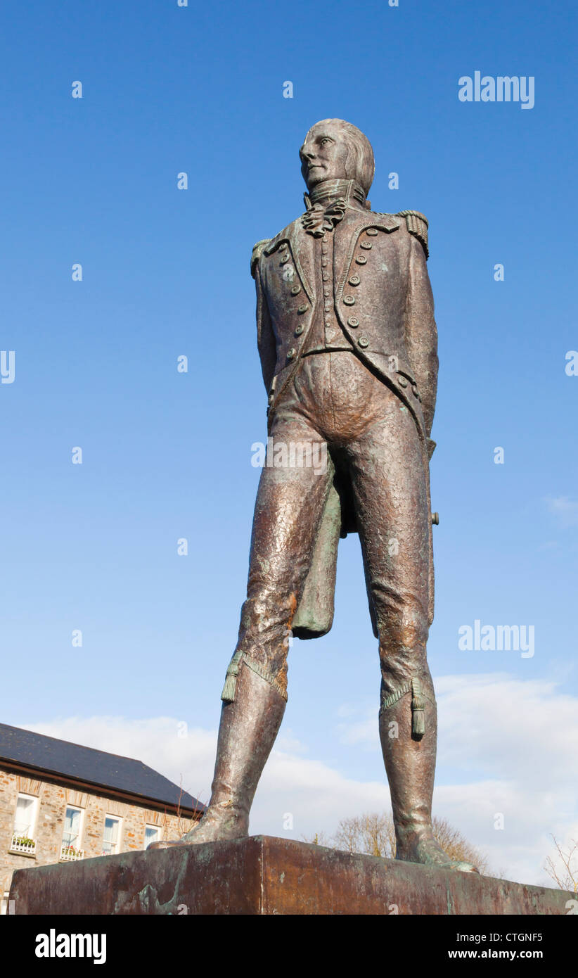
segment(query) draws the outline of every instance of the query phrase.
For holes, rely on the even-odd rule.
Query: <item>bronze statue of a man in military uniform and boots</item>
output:
[[[357,532],[379,643],[396,858],[475,871],[451,860],[431,830],[437,730],[425,645],[437,333],[427,221],[372,211],[373,150],[348,122],[317,122],[299,156],[306,212],[255,244],[251,260],[273,465],[257,492],[211,798],[180,842],[155,845],[248,834],[286,707],[289,634],[329,631],[338,538]]]

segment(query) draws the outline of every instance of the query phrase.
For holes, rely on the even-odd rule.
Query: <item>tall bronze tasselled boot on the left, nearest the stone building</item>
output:
[[[281,727],[287,700],[246,661],[237,668],[232,695],[235,698],[224,702],[221,710],[215,773],[206,811],[181,839],[153,842],[149,849],[248,835],[249,809]]]

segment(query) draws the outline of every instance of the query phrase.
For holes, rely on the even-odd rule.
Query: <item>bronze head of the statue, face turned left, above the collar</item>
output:
[[[366,196],[376,172],[367,136],[343,119],[322,119],[312,125],[299,150],[301,173],[312,190],[323,180],[355,180]]]

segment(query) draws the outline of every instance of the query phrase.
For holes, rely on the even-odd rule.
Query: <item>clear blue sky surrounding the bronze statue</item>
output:
[[[447,689],[476,689],[494,732],[516,704],[536,711],[520,719],[519,740],[506,724],[495,754],[480,730],[456,755],[442,727],[437,809],[496,867],[538,878],[548,832],[565,837],[578,823],[563,774],[575,780],[576,721],[560,742],[550,729],[578,705],[578,378],[565,373],[578,347],[572,5],[32,0],[9,5],[4,21],[0,349],[16,352],[16,375],[0,384],[2,721],[74,738],[76,718],[77,736],[100,746],[98,718],[116,718],[118,752],[142,747],[176,779],[185,768],[206,800],[211,750],[196,767],[190,734],[192,753],[177,763],[170,725],[162,757],[138,732],[173,718],[210,740],[218,724],[245,595],[250,446],[266,434],[250,250],[302,211],[308,127],[345,118],[375,149],[374,208],[415,208],[430,222],[440,337],[430,668]],[[458,79],[475,70],[533,76],[534,108],[460,102]],[[77,80],[82,99],[71,98]],[[177,190],[183,171],[188,191]],[[388,189],[391,171],[399,190]],[[82,282],[71,280],[75,262]],[[176,370],[182,354],[188,374]],[[460,650],[458,630],[475,619],[533,625],[534,656]],[[378,686],[350,537],[333,631],[290,650],[280,750],[297,781],[307,764],[337,778],[327,812],[312,778],[294,837],[378,805],[366,790],[383,780]],[[522,783],[535,734],[524,725],[546,716],[542,768]],[[374,735],[360,739],[366,721]],[[558,803],[530,823],[555,750]],[[496,841],[475,812],[480,792],[498,811],[502,788],[510,830]],[[275,803],[258,804],[255,829],[283,834]]]

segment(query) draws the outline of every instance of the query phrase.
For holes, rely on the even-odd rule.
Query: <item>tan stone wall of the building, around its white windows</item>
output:
[[[10,853],[18,795],[38,798],[34,856]],[[145,848],[145,826],[159,825],[160,838],[178,839],[192,825],[190,818],[177,818],[164,811],[144,808],[108,798],[102,789],[76,791],[55,779],[26,778],[0,767],[0,899],[10,889],[15,869],[58,863],[61,857],[67,805],[82,809],[79,848],[84,858],[103,854],[105,818],[120,818],[121,834],[118,852]]]

